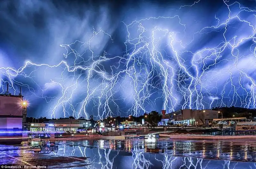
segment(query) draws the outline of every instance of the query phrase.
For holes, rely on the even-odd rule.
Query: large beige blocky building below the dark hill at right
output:
[[[187,123],[189,125],[208,125],[213,119],[218,118],[219,113],[215,110],[177,110],[171,113],[170,122],[174,125]]]

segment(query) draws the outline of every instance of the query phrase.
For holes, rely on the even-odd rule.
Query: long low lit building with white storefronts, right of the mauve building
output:
[[[30,123],[30,131],[76,131],[77,129],[91,128],[91,121],[76,119],[50,120],[44,123]]]

